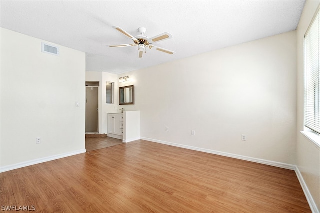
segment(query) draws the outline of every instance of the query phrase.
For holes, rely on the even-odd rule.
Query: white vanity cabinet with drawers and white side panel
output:
[[[140,111],[108,113],[107,136],[131,142],[140,139]]]

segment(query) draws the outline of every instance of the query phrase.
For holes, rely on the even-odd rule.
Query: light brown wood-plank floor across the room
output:
[[[143,140],[1,173],[38,212],[311,212],[292,170]]]

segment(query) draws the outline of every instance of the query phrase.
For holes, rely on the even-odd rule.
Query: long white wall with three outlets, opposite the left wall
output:
[[[124,73],[124,108],[140,110],[145,139],[295,164],[295,60],[292,31]]]

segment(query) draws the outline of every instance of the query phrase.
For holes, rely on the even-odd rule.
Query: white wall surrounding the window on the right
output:
[[[303,36],[320,1],[307,0],[297,28],[297,151],[296,165],[320,210],[320,148],[306,139],[303,130]]]

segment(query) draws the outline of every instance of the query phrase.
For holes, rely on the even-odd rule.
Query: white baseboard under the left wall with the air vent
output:
[[[25,161],[25,162],[20,162],[20,163],[16,163],[13,165],[6,165],[3,167],[0,167],[0,173],[5,172],[5,171],[10,171],[13,169],[17,169],[17,168],[26,167],[29,165],[35,165],[35,164],[42,163],[42,162],[48,162],[48,161],[55,160],[55,159],[69,157],[69,156],[76,155],[76,154],[82,154],[85,152],[86,152],[85,149],[80,149],[77,151],[71,151],[71,152],[67,152],[67,153],[63,153],[63,154],[57,154],[57,155],[53,155],[53,156],[49,156],[49,157],[43,157],[43,158],[38,158],[38,159],[29,160],[29,161]]]

